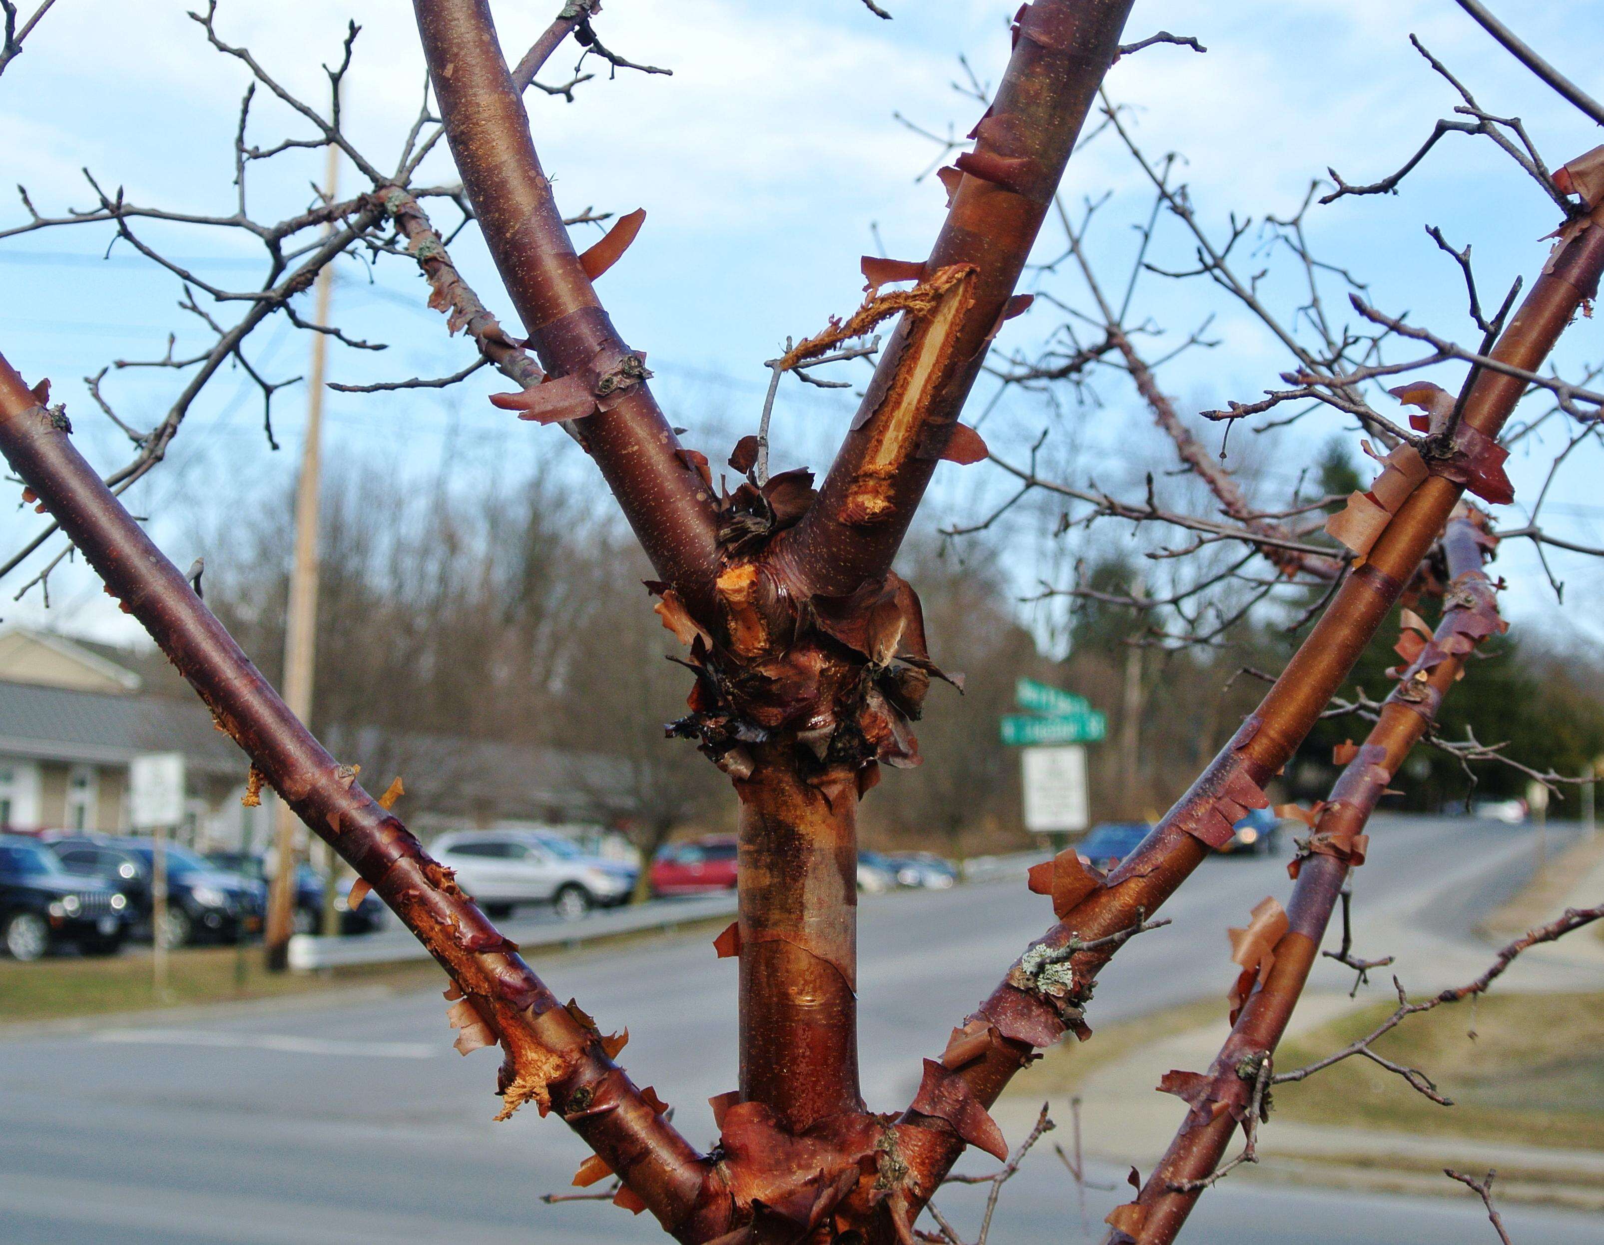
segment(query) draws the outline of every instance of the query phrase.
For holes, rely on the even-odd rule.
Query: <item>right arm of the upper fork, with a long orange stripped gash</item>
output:
[[[1036,0],[1020,8],[996,98],[958,157],[946,223],[926,273],[972,266],[935,314],[892,334],[852,432],[796,531],[776,547],[786,576],[845,595],[890,570],[974,385],[1132,0]]]

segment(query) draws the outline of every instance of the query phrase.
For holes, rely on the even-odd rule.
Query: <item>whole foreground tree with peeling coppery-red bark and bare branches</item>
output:
[[[1442,622],[1429,637],[1400,640],[1407,666],[1399,688],[1331,801],[1309,815],[1312,834],[1290,910],[1261,905],[1240,934],[1243,980],[1230,1041],[1206,1075],[1173,1073],[1166,1085],[1190,1104],[1187,1123],[1139,1198],[1110,1218],[1116,1240],[1174,1239],[1237,1125],[1262,1105],[1270,1054],[1343,879],[1363,862],[1362,831],[1376,799],[1428,732],[1464,656],[1501,627],[1480,570],[1495,541],[1463,494],[1469,488],[1489,501],[1508,499],[1497,438],[1564,327],[1596,294],[1604,271],[1596,162],[1575,162],[1554,180],[1569,213],[1554,253],[1519,310],[1489,331],[1464,391],[1456,399],[1428,388],[1407,395],[1429,414],[1416,427],[1420,436],[1394,436],[1371,489],[1354,494],[1331,523],[1352,550],[1346,562],[1339,549],[1301,547],[1251,512],[1235,483],[1195,443],[1187,446],[1179,417],[1105,305],[1105,350],[1124,359],[1184,459],[1219,493],[1241,525],[1238,539],[1288,574],[1336,581],[1335,590],[1259,708],[1136,852],[1108,876],[1089,871],[1073,852],[1035,871],[1031,886],[1051,895],[1055,924],[962,1019],[946,1049],[924,1060],[919,1093],[903,1112],[866,1110],[857,1067],[857,804],[881,764],[916,762],[909,722],[930,680],[946,677],[930,658],[917,597],[892,560],[937,464],[986,452],[958,422],[959,412],[999,326],[1022,308],[1015,286],[1104,75],[1121,55],[1131,8],[1132,0],[1022,6],[1012,58],[974,130],[974,149],[942,170],[948,217],[929,258],[866,260],[871,298],[858,316],[773,364],[778,379],[900,316],[816,491],[808,472],[767,475],[767,427],[760,444],[743,443],[731,457],[744,483],[733,493],[715,488],[707,459],[678,443],[656,404],[646,356],[619,337],[595,290],[638,229],[638,213],[585,253],[569,241],[534,151],[523,90],[565,37],[595,43],[593,0],[565,5],[513,69],[489,0],[415,0],[438,133],[451,144],[460,191],[409,186],[420,159],[417,130],[399,170],[385,175],[348,146],[337,111],[326,122],[298,106],[372,186],[265,233],[276,249],[298,229],[332,228],[295,268],[274,250],[273,281],[255,297],[250,322],[220,332],[218,348],[186,390],[183,403],[255,322],[287,308],[332,255],[388,221],[395,245],[423,270],[431,305],[521,387],[497,404],[537,424],[561,424],[597,462],[659,576],[648,584],[656,611],[688,648],[690,712],[672,730],[698,741],[739,801],[739,919],[719,940],[720,955],[739,959],[739,1086],[715,1102],[720,1138],[711,1152],[687,1141],[654,1089],[635,1086],[614,1062],[622,1040],[598,1033],[576,1003],[560,1004],[385,802],[295,720],[74,449],[48,385],[29,387],[0,359],[0,451],[29,499],[189,679],[253,772],[446,969],[459,1049],[502,1051],[502,1115],[526,1102],[542,1115],[558,1113],[595,1150],[579,1179],[614,1173],[616,1200],[650,1210],[678,1240],[906,1242],[966,1146],[1007,1158],[986,1109],[1039,1049],[1067,1032],[1089,1033],[1084,1011],[1099,971],[1129,937],[1152,927],[1165,900],[1225,844],[1246,810],[1267,804],[1264,788],[1440,544],[1448,576]],[[212,18],[213,10],[197,18],[212,42],[277,90],[249,53],[221,43]],[[338,74],[332,77],[337,96]],[[427,120],[425,109],[420,127]],[[241,170],[242,136],[244,117]],[[1580,207],[1564,199],[1572,193]],[[462,281],[422,207],[430,194],[468,205],[526,340],[508,335]],[[106,196],[98,215],[88,213],[114,221],[130,241],[128,221],[138,215]],[[909,281],[911,289],[877,292]],[[273,385],[260,383],[271,399]],[[1301,383],[1341,388],[1327,374]],[[159,460],[183,411],[175,406],[156,433],[136,438],[140,459],[114,485]]]

